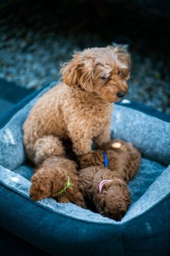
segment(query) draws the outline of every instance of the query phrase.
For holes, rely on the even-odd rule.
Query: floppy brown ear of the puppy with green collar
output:
[[[65,188],[67,184],[67,178],[66,175],[60,175],[55,177],[55,180],[53,180],[53,188],[52,188],[52,196],[57,196],[57,194]]]

